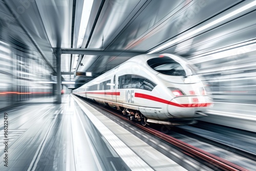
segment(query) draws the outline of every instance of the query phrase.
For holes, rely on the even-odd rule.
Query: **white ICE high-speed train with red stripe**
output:
[[[144,126],[192,124],[212,105],[194,67],[174,54],[132,57],[73,94],[118,109]]]

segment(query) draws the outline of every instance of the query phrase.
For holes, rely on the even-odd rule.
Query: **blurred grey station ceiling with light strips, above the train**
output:
[[[61,55],[61,72],[71,73],[62,77],[76,80],[77,86],[131,58],[130,52],[176,53],[195,59],[255,39],[256,7],[252,0],[94,0],[91,3],[0,0],[0,37],[43,56],[53,70],[56,70],[55,48],[91,50],[90,54],[66,51]],[[82,13],[88,6],[91,7],[85,11],[90,14],[88,24],[80,28],[86,23]],[[92,76],[74,78],[73,72],[91,72]]]

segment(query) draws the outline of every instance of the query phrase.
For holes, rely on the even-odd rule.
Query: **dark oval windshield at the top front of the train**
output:
[[[147,60],[147,64],[155,71],[166,75],[188,76],[194,75],[195,72],[182,59],[178,62],[170,57],[157,57]]]

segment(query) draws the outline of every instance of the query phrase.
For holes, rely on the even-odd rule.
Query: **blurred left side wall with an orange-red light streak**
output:
[[[0,61],[0,109],[54,94],[53,72],[36,52],[0,41]]]

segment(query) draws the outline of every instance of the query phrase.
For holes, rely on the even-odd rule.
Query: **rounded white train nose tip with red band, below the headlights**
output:
[[[167,111],[175,118],[202,117],[211,105],[207,96],[181,96],[169,101]]]

